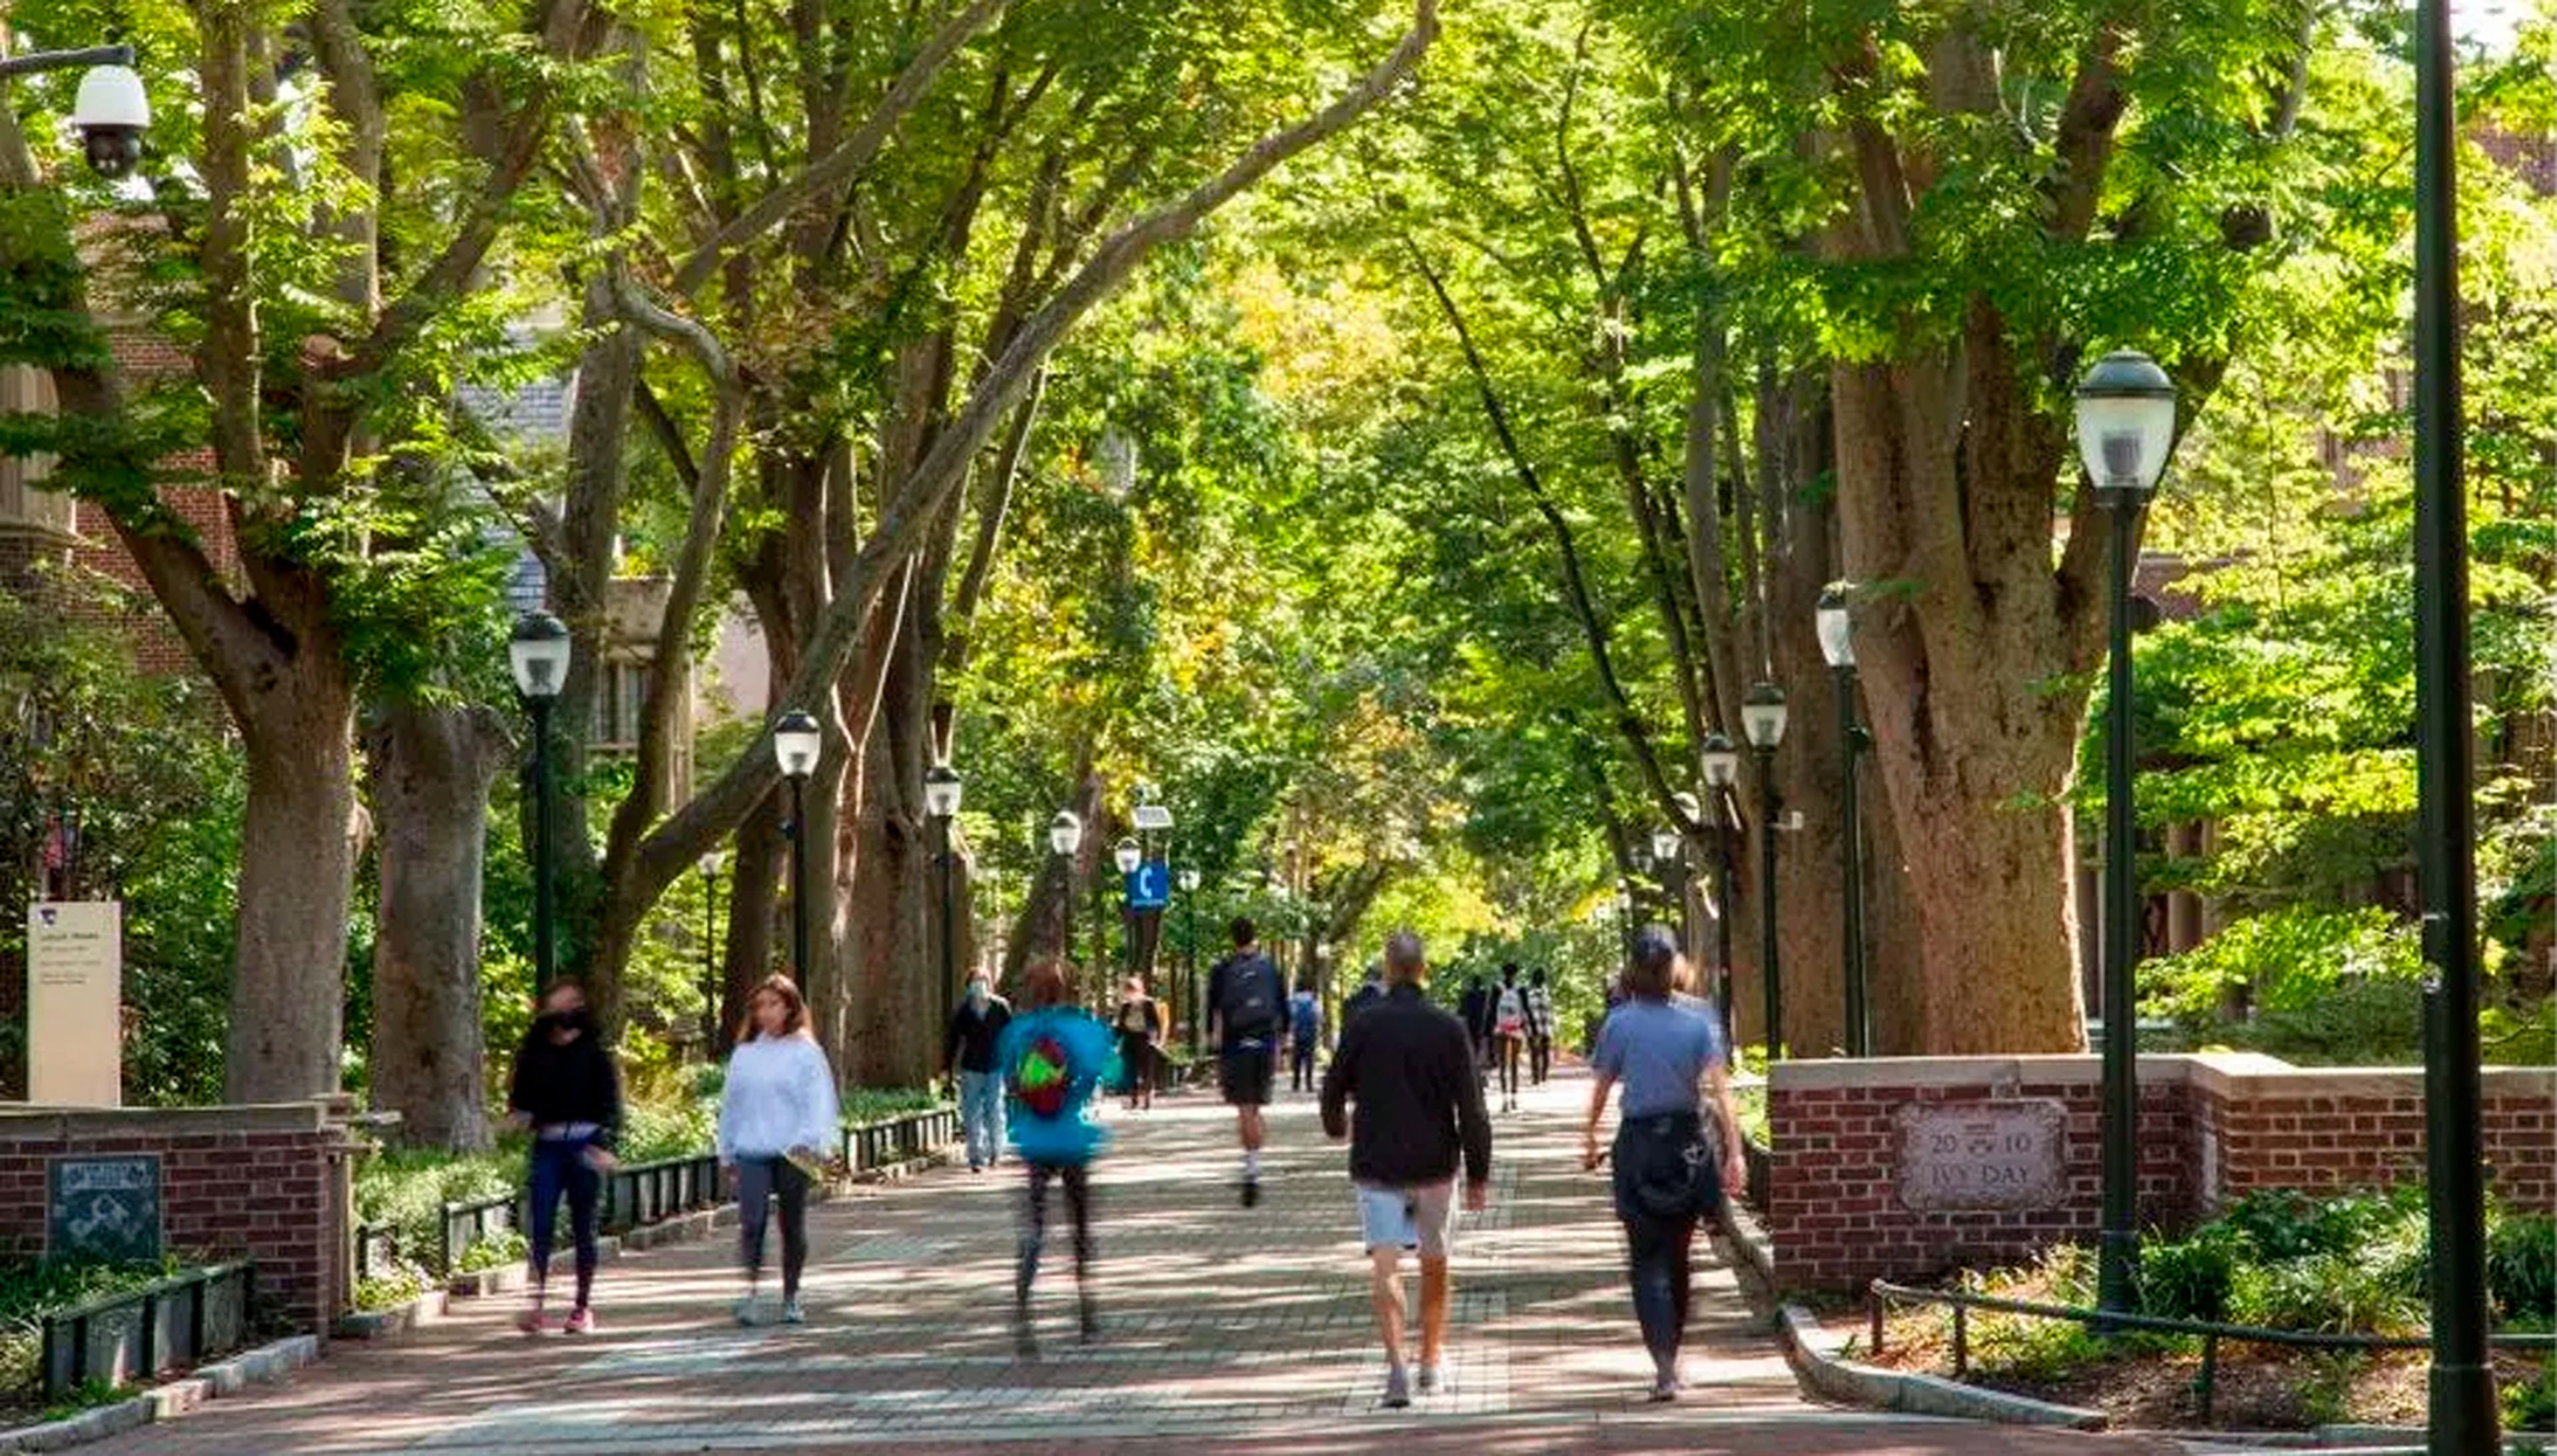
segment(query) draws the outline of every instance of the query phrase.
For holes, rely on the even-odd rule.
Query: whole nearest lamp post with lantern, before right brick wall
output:
[[[2115,350],[2076,388],[2079,460],[2112,513],[2112,662],[2104,700],[2104,1229],[2097,1308],[2130,1313],[2140,1275],[2140,935],[2133,805],[2130,585],[2140,508],[2176,444],[2176,386],[2148,355]]]

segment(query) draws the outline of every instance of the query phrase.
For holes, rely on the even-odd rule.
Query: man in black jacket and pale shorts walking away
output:
[[[1465,1024],[1422,996],[1422,940],[1386,940],[1386,999],[1340,1035],[1322,1078],[1322,1129],[1350,1139],[1350,1180],[1365,1226],[1371,1303],[1386,1341],[1386,1405],[1411,1405],[1404,1369],[1404,1249],[1422,1257],[1422,1374],[1440,1382],[1447,1338],[1447,1241],[1455,1231],[1455,1172],[1465,1165],[1465,1208],[1491,1190],[1491,1116]],[[1355,1121],[1345,1103],[1358,1101]]]

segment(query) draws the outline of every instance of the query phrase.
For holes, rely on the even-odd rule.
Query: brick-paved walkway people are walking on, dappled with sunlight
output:
[[[1452,1382],[1378,1413],[1340,1149],[1312,1101],[1273,1109],[1261,1208],[1235,1203],[1232,1121],[1204,1096],[1112,1111],[1102,1165],[1102,1341],[1071,1336],[1051,1239],[1043,1359],[1007,1328],[1018,1180],[964,1167],[826,1203],[805,1328],[736,1328],[731,1241],[606,1264],[603,1328],[524,1338],[509,1298],[384,1346],[335,1344],[291,1384],[220,1400],[100,1456],[424,1451],[1703,1451],[1734,1456],[2168,1453],[2168,1443],[1897,1420],[1803,1400],[1731,1272],[1700,1270],[1690,1400],[1642,1405],[1649,1361],[1606,1185],[1573,1157],[1588,1083],[1498,1119],[1493,1203],[1457,1244]],[[1278,1441],[1271,1446],[1271,1441]]]

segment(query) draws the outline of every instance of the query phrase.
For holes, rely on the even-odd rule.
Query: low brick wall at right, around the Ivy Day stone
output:
[[[2056,1178],[1989,1208],[1913,1208],[1905,1119],[2058,1103]],[[1874,1058],[1780,1063],[1767,1083],[1767,1231],[1777,1280],[1859,1290],[1874,1277],[2012,1264],[2092,1241],[2102,1206],[2097,1058]],[[2508,1206],[2557,1211],[2557,1073],[2485,1075],[2485,1162]],[[1923,1170],[1918,1170],[1923,1172]],[[2424,1180],[2424,1078],[2404,1068],[2294,1068],[2276,1058],[2140,1058],[2140,1226],[2181,1229],[2255,1188]]]

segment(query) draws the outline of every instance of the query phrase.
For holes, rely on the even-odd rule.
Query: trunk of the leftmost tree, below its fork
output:
[[[338,1091],[345,914],[355,879],[353,692],[338,644],[302,641],[243,720],[240,948],[222,1098]]]

